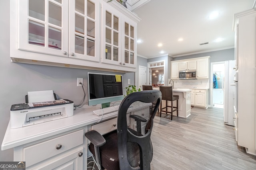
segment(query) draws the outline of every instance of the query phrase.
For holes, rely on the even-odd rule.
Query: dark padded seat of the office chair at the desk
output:
[[[102,166],[107,170],[119,170],[117,132],[113,131],[103,135],[106,143],[100,148]],[[110,142],[111,141],[111,142]],[[90,143],[89,150],[95,155],[94,145]],[[118,167],[118,168],[116,168]]]

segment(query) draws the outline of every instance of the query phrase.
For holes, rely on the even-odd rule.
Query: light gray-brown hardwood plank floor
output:
[[[238,147],[223,109],[194,107],[172,121],[157,115],[151,140],[151,170],[256,170],[256,156]]]

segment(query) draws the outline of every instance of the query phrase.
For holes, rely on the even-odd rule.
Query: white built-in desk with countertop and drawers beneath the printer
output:
[[[14,148],[14,161],[26,161],[26,170],[59,166],[86,170],[88,140],[84,134],[92,124],[117,117],[117,112],[98,117],[92,113],[96,109],[100,106],[77,108],[72,117],[17,129],[9,123],[1,149]],[[62,147],[57,149],[58,145]]]

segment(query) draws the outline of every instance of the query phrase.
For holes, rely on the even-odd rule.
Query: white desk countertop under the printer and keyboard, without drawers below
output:
[[[97,106],[84,106],[76,108],[74,115],[71,117],[65,117],[54,121],[47,121],[36,125],[20,127],[17,129],[10,128],[10,122],[6,129],[4,139],[2,142],[2,150],[14,148],[26,143],[34,142],[46,137],[57,135],[66,131],[70,131],[76,128],[84,127],[117,117],[117,111],[114,113],[96,116],[92,113],[93,110],[100,109],[100,105]]]

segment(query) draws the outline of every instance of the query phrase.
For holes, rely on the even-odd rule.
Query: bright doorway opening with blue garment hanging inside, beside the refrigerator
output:
[[[211,106],[224,108],[223,77],[225,76],[225,62],[211,63],[210,99]]]

